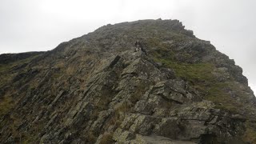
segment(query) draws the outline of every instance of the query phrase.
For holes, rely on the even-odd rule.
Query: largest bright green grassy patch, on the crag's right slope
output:
[[[150,54],[153,56],[154,62],[161,62],[162,66],[173,69],[177,77],[190,82],[190,85],[201,92],[206,100],[216,103],[217,108],[238,113],[238,108],[242,104],[236,102],[235,98],[228,93],[229,89],[235,90],[232,84],[234,82],[218,82],[212,73],[215,69],[213,63],[179,62],[174,58],[174,51],[166,49],[164,46],[152,50]]]

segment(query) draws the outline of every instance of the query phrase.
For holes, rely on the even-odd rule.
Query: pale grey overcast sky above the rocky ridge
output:
[[[0,54],[52,50],[108,23],[178,19],[242,66],[256,92],[255,0],[0,0]]]

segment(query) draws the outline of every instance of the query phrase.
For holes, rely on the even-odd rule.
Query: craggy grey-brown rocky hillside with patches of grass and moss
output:
[[[102,26],[0,60],[1,143],[256,143],[242,69],[178,20]]]

